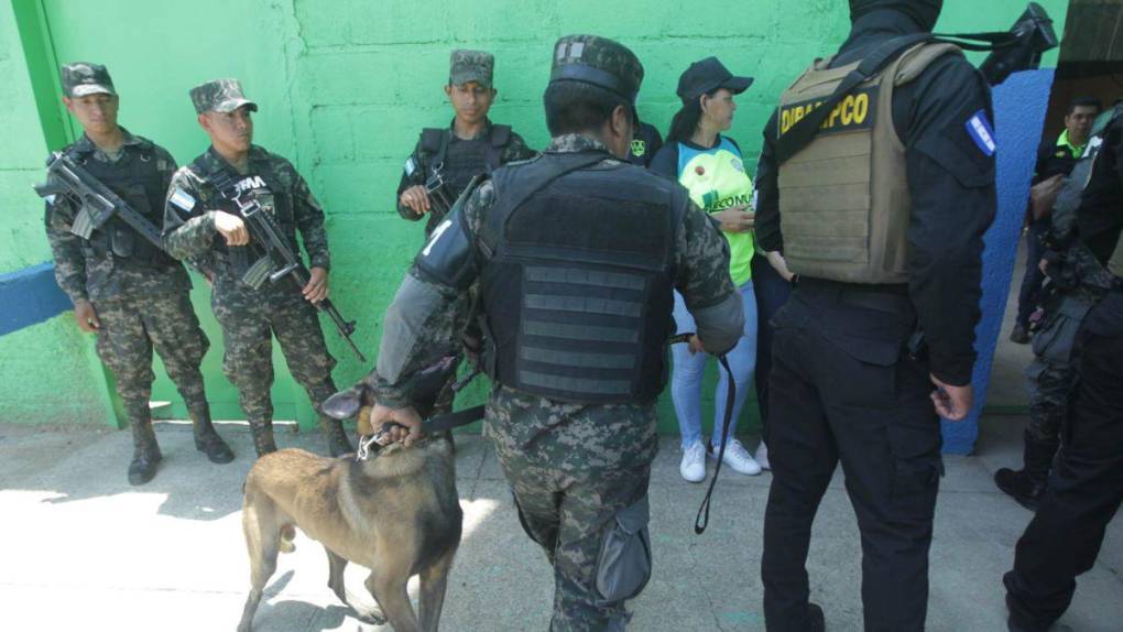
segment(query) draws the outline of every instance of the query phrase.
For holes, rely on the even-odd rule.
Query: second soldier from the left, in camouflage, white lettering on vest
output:
[[[270,399],[274,336],[289,369],[317,411],[336,392],[331,381],[336,360],[328,352],[313,306],[328,296],[330,257],[323,210],[289,161],[252,144],[250,112],[257,111],[257,104],[243,95],[236,80],[198,85],[191,90],[191,101],[211,147],[172,178],[165,204],[165,241],[172,256],[198,260],[213,282],[211,306],[222,326],[226,347],[222,369],[238,388],[254,446],[262,456],[276,450]],[[293,253],[300,253],[300,230],[311,259],[304,287],[296,287],[287,276],[257,290],[243,281],[263,251],[252,242],[235,202],[223,195],[226,187],[220,190],[222,183],[253,195],[281,226]],[[321,414],[320,423],[332,456],[351,451],[339,421]]]

